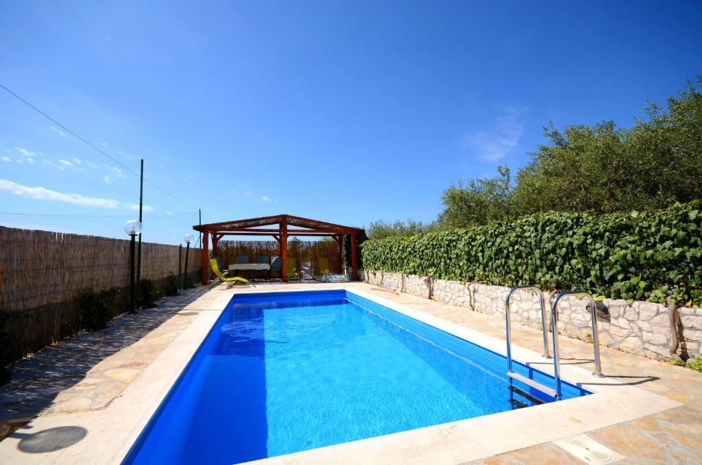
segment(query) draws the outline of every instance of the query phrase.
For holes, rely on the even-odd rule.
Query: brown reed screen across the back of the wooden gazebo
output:
[[[277,241],[219,241],[219,256],[222,257],[224,267],[237,262],[237,255],[246,255],[250,263],[258,262],[258,255],[269,257],[280,255]],[[295,258],[298,266],[302,262],[312,262],[312,273],[319,276],[319,259],[324,257],[329,260],[329,271],[336,273],[338,270],[338,250],[336,241],[288,241],[288,257]]]

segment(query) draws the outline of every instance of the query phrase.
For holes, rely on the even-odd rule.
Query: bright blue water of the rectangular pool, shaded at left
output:
[[[237,295],[125,462],[232,464],[503,412],[506,371],[503,356],[351,292]]]

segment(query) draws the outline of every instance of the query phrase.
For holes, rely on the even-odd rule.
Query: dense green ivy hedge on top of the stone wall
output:
[[[546,213],[366,241],[363,267],[627,300],[702,304],[702,203],[611,215]]]

